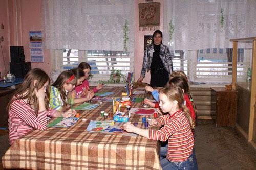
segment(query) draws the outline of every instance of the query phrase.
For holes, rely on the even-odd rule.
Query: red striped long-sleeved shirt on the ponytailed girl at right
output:
[[[172,116],[169,114],[157,119],[160,130],[149,130],[149,138],[153,140],[166,141],[168,139],[168,150],[166,158],[172,162],[184,162],[192,154],[194,137],[191,132],[189,120],[182,110]]]

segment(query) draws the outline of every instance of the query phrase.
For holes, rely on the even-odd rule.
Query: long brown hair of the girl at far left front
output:
[[[34,85],[34,80],[37,80]],[[49,85],[46,88],[46,97],[45,97],[45,105],[46,109],[49,109],[49,97],[50,97],[50,78],[46,74],[45,71],[34,68],[30,70],[27,75],[24,78],[23,83],[20,85],[19,89],[14,93],[11,101],[7,105],[7,111],[9,112],[10,106],[14,100],[19,99],[27,99],[28,104],[31,106],[34,106],[34,110],[36,112],[36,115],[38,114],[38,99],[35,95],[34,90],[39,90],[46,82],[49,83]]]

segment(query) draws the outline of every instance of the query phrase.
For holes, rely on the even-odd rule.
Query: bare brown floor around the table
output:
[[[198,120],[195,129],[199,169],[256,169],[256,150],[233,128],[216,127],[212,120]],[[8,134],[0,131],[0,169],[9,147]]]

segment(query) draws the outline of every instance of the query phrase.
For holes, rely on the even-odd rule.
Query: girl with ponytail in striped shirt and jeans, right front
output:
[[[191,117],[183,110],[183,92],[177,86],[164,87],[159,92],[163,112],[168,114],[150,120],[149,124],[163,126],[160,130],[141,129],[131,122],[124,124],[127,132],[152,140],[168,140],[167,156],[160,160],[162,169],[197,169]],[[163,152],[163,150],[160,151]]]

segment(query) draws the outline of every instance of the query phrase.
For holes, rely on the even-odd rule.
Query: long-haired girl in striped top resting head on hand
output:
[[[75,112],[65,113],[49,109],[49,76],[39,68],[28,72],[24,82],[8,103],[10,145],[33,128],[45,130],[47,116],[73,117]]]

